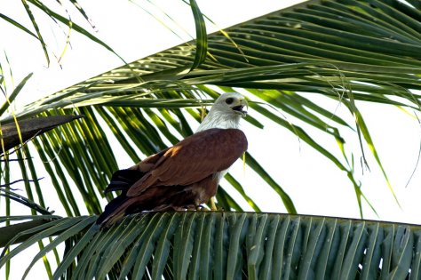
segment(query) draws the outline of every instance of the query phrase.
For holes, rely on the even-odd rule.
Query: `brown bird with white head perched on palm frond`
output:
[[[247,108],[242,94],[223,93],[194,134],[116,171],[104,192],[121,194],[107,204],[97,224],[109,228],[134,212],[194,210],[210,200],[215,210],[219,181],[248,148],[240,129]]]

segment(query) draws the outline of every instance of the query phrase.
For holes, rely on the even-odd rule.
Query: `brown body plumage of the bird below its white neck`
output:
[[[234,164],[247,145],[242,131],[213,128],[148,156],[129,169],[139,172],[139,180],[121,188],[122,195],[107,205],[97,222],[109,226],[132,212],[189,209],[208,202],[216,195],[218,173]]]

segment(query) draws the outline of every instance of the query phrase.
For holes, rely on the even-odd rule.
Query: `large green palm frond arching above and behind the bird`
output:
[[[55,187],[64,189],[58,192],[70,193],[68,187],[63,187],[67,185],[63,176],[72,171],[69,175],[85,197],[88,211],[99,212],[100,198],[95,188],[101,191],[110,174],[117,169],[113,149],[107,140],[109,132],[100,127],[100,123],[105,121],[131,159],[138,161],[139,151],[150,155],[168,142],[174,143],[192,133],[187,119],[193,116],[199,121],[201,109],[195,107],[209,105],[218,96],[208,85],[213,84],[222,91],[242,88],[282,110],[280,114],[250,102],[258,115],[298,135],[346,172],[361,209],[361,198],[365,197],[361,196],[358,180],[353,178],[353,166],[347,153],[342,152],[343,158],[334,156],[331,148],[323,147],[299,122],[291,123],[283,115],[330,134],[338,141],[341,151],[345,146],[339,128],[355,126],[361,137],[361,148],[362,140],[365,140],[384,171],[354,101],[367,100],[419,109],[419,96],[411,92],[420,88],[417,75],[421,71],[421,49],[418,46],[421,25],[416,21],[417,10],[409,4],[395,4],[394,1],[371,4],[364,1],[309,1],[227,28],[229,38],[217,32],[205,40],[203,19],[198,16],[197,6],[192,8],[196,15],[197,44],[181,44],[133,61],[29,104],[17,114],[18,117],[28,117],[72,112],[87,116],[80,125],[65,126],[66,130],[60,135],[52,132],[44,136],[42,142],[36,143],[44,158],[48,158],[45,155],[48,150],[50,158],[56,157],[54,149],[61,151],[60,161],[53,162],[54,169],[48,168],[51,176],[62,178]],[[391,25],[385,18],[393,18],[399,24]],[[204,53],[211,56],[203,61]],[[343,102],[355,117],[355,124],[347,124],[335,116],[335,112],[317,106],[306,96],[308,93],[303,92],[320,93]],[[193,108],[185,109],[187,107]],[[251,117],[246,120],[258,124]],[[3,121],[11,122],[12,117],[4,117]],[[82,141],[75,145],[88,147],[78,148],[82,154],[76,159],[77,164],[71,156],[75,146],[68,145],[75,137]],[[137,148],[132,148],[131,142]],[[99,150],[103,155],[99,156]],[[264,172],[251,167],[266,178]],[[385,180],[393,192],[386,175]],[[274,184],[272,187],[278,188]],[[290,197],[282,188],[279,189],[285,207],[295,212]],[[69,196],[63,199],[76,207]],[[221,197],[221,201],[232,200]],[[62,201],[62,204],[68,202]],[[229,206],[240,209],[238,204]]]

